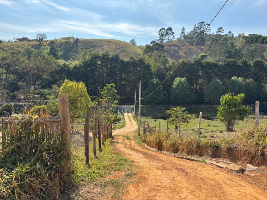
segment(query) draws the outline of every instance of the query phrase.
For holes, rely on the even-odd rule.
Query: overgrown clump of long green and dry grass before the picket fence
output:
[[[34,117],[0,143],[0,199],[61,199],[72,183],[72,158],[57,135],[34,134]]]

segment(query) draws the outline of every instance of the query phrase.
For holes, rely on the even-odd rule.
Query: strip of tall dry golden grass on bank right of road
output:
[[[219,138],[185,137],[158,131],[142,135],[148,146],[180,154],[227,157],[254,165],[267,165],[267,125],[251,126],[233,136]]]

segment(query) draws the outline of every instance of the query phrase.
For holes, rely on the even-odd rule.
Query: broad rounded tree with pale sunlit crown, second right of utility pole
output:
[[[171,86],[170,99],[172,103],[188,103],[196,100],[194,91],[191,91],[186,78],[177,77]]]

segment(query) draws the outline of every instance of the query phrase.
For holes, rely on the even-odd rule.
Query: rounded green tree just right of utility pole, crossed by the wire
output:
[[[151,94],[155,89],[157,89],[160,86],[160,81],[157,78],[151,79],[146,88],[146,96]],[[159,103],[163,100],[163,90],[162,86],[159,87],[153,94],[148,96],[145,101],[146,102],[151,102],[152,106],[154,103]]]

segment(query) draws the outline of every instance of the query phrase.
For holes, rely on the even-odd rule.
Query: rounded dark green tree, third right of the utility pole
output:
[[[220,102],[223,94],[225,94],[225,87],[223,87],[221,81],[215,79],[207,86],[204,93],[204,100],[205,102],[209,102],[214,105],[214,103]]]

